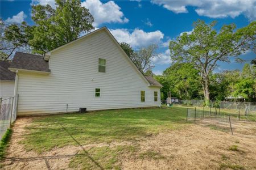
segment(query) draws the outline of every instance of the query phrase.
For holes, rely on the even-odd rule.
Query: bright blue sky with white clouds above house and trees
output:
[[[34,24],[31,20],[32,4],[49,4],[51,0],[1,1],[1,18],[7,24]],[[237,28],[245,27],[256,20],[256,1],[218,0],[218,1],[82,1],[82,6],[93,14],[94,27],[106,26],[119,41],[125,41],[139,49],[142,46],[158,44],[160,58],[155,58],[153,72],[161,74],[170,66],[168,41],[182,32],[192,30],[197,19],[210,23],[217,20],[216,29],[223,24],[235,23]],[[255,58],[253,52],[242,55],[246,62]],[[242,69],[244,63],[218,63],[215,71]]]

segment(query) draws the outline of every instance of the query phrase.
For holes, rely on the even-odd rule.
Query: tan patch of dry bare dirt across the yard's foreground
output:
[[[65,146],[38,154],[27,151],[20,144],[25,127],[33,117],[16,120],[10,147],[3,169],[71,169],[69,163],[77,154],[95,147],[137,146],[133,154],[118,155],[122,169],[255,169],[256,133],[251,126],[241,122],[234,125],[234,135],[229,131],[211,129],[207,124],[192,124],[180,130],[171,130],[134,142],[92,143],[90,145]],[[250,127],[250,128],[249,128]],[[247,132],[247,133],[244,133]],[[237,146],[236,150],[230,147]],[[87,154],[90,154],[89,152]]]

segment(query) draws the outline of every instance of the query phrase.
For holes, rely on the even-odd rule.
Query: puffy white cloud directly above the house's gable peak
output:
[[[121,8],[113,1],[102,3],[99,0],[86,0],[81,3],[88,8],[90,14],[94,17],[93,26],[96,27],[102,23],[127,23],[129,19],[125,18]]]

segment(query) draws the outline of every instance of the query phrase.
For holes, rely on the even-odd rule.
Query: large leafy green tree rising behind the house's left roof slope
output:
[[[55,0],[55,4],[56,10],[49,5],[32,6],[35,29],[29,44],[34,53],[44,54],[93,29],[93,16],[79,0]]]

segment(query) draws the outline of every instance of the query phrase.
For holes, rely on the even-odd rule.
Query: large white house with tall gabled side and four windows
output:
[[[15,53],[18,116],[157,107],[162,85],[144,76],[106,27],[46,53]]]

